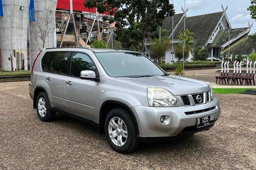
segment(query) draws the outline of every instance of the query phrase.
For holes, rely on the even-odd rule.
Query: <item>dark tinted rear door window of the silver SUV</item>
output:
[[[67,75],[70,52],[54,52],[50,72]]]

